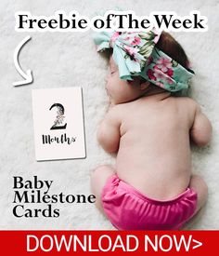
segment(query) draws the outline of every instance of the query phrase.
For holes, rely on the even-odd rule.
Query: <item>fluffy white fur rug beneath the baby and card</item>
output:
[[[77,10],[92,18],[101,10],[121,7],[134,10],[136,15],[148,15],[154,10],[174,10],[178,15],[188,15],[200,10],[208,17],[207,33],[174,33],[186,49],[196,77],[191,97],[200,102],[203,111],[213,123],[213,141],[207,148],[192,149],[194,173],[204,177],[209,185],[209,198],[198,218],[188,229],[219,229],[219,26],[217,0],[195,1],[76,1],[76,0],[3,0],[0,2],[0,229],[113,229],[92,204],[59,205],[59,218],[15,218],[12,214],[13,176],[53,180],[51,193],[91,194],[90,171],[99,164],[113,163],[97,144],[96,132],[103,118],[108,99],[104,90],[107,62],[94,47],[91,31],[86,33],[32,33],[32,41],[21,50],[19,60],[23,69],[32,69],[32,85],[13,88],[12,82],[20,80],[13,63],[14,49],[28,35],[14,31],[14,13],[31,11],[34,15],[50,16],[56,10]],[[81,160],[36,162],[32,127],[32,88],[83,87],[84,122],[87,157]]]

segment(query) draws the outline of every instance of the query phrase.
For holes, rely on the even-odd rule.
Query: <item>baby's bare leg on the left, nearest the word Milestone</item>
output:
[[[111,166],[100,166],[96,168],[91,174],[91,189],[94,195],[96,195],[97,209],[103,211],[101,193],[107,180],[115,174],[115,169]]]

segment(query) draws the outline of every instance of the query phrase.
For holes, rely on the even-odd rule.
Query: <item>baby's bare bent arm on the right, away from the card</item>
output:
[[[190,136],[192,141],[198,146],[206,146],[212,137],[212,125],[207,116],[201,112],[198,104],[196,106],[194,122],[190,129]]]

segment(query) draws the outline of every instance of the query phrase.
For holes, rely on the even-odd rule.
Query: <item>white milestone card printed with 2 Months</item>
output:
[[[32,89],[37,161],[84,158],[82,88]]]

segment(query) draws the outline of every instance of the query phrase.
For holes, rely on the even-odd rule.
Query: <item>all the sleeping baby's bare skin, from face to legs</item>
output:
[[[102,210],[101,191],[114,174],[158,200],[170,200],[193,188],[198,207],[204,205],[207,185],[191,173],[190,142],[209,143],[212,126],[196,101],[172,97],[162,88],[139,85],[119,78],[110,59],[106,85],[110,110],[101,123],[97,139],[108,153],[117,153],[115,167],[101,166],[92,175],[91,185]]]

